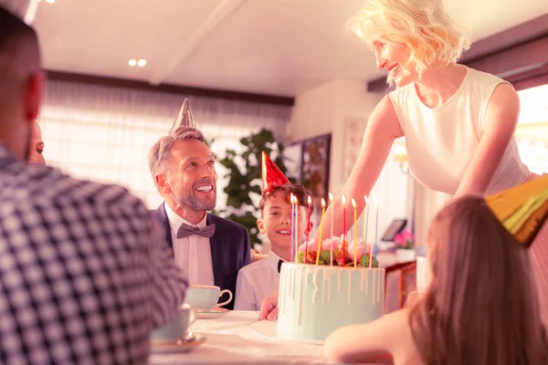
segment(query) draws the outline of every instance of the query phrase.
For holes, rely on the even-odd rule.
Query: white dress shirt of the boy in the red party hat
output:
[[[237,274],[235,310],[259,310],[260,302],[279,287],[279,261],[285,261],[269,252],[266,258],[244,266]]]

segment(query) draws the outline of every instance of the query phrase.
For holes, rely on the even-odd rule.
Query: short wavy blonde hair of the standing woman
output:
[[[434,65],[456,63],[469,37],[446,12],[442,0],[367,0],[347,29],[369,46],[374,41],[404,45],[406,67],[421,75]]]

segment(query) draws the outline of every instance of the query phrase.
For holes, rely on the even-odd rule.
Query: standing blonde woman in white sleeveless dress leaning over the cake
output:
[[[520,113],[516,91],[501,78],[458,65],[470,43],[442,0],[368,0],[349,28],[372,48],[396,89],[369,118],[353,171],[332,203],[336,216],[342,216],[342,194],[371,192],[393,142],[404,136],[413,176],[449,196],[490,195],[534,178],[514,139]],[[362,200],[358,209],[364,209]],[[331,232],[332,214],[330,209],[324,218],[324,237]],[[341,220],[333,222],[333,234],[341,235]],[[346,226],[352,224],[347,214]],[[548,317],[546,225],[530,252]],[[276,300],[269,297],[259,318],[277,318]]]

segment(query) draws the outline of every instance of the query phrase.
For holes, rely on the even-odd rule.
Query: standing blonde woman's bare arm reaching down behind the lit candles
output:
[[[342,194],[346,196],[346,227],[350,228],[353,224],[353,214],[350,214],[353,211],[351,199],[356,201],[358,214],[361,214],[365,207],[364,195],[368,195],[373,189],[394,140],[403,137],[403,135],[392,100],[388,95],[385,95],[367,121],[362,148],[348,181],[344,184],[342,192],[333,199],[332,207],[334,207],[334,214],[337,217],[333,220],[333,235],[342,235],[342,220],[340,219],[342,217]],[[331,234],[332,214],[332,209],[325,212],[322,233],[324,238],[328,237],[328,233]],[[319,231],[316,231],[315,240],[319,238]]]

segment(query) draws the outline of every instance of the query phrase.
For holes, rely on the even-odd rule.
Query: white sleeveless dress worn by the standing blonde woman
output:
[[[490,97],[501,83],[508,82],[467,68],[457,92],[433,109],[418,98],[415,84],[389,94],[406,136],[409,171],[419,183],[449,196],[457,192],[483,135],[483,117]],[[512,138],[486,196],[521,184],[530,176]],[[544,224],[530,253],[544,320],[548,323],[548,224]]]

